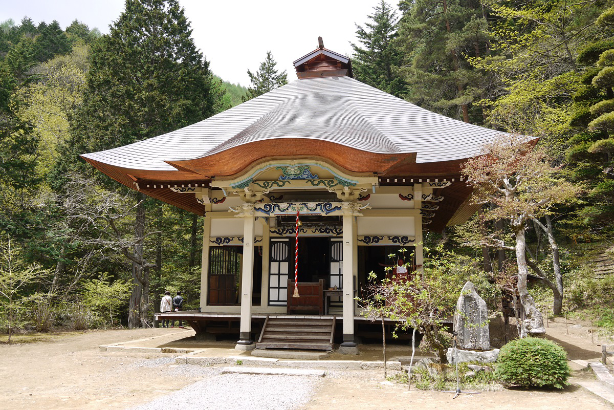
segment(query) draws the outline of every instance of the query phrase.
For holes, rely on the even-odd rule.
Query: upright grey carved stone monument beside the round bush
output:
[[[458,349],[489,350],[491,337],[488,330],[486,302],[471,282],[462,288],[454,312],[454,331],[457,333]]]

